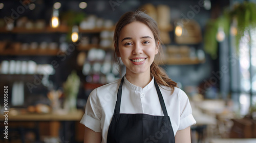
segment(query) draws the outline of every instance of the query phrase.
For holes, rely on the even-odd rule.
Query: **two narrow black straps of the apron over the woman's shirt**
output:
[[[115,110],[114,110],[114,115],[120,113],[123,80],[124,80],[124,76],[121,79],[121,82],[120,82],[120,85],[119,85],[119,88],[118,88],[118,91],[117,91],[117,100],[116,100],[116,106],[115,106]],[[162,110],[163,110],[163,114],[165,116],[168,116],[168,113],[167,113],[167,110],[166,110],[166,106],[165,106],[165,103],[164,103],[164,100],[163,100],[162,93],[161,93],[161,91],[159,89],[159,86],[158,86],[155,78],[154,78],[154,83],[155,83],[155,87],[156,87],[156,90],[157,90],[158,98],[159,98],[159,101],[160,101],[160,104],[161,104],[161,107],[162,107]]]

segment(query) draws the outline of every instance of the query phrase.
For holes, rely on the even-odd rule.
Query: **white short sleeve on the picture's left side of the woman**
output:
[[[94,89],[88,97],[85,113],[80,121],[81,124],[95,132],[101,132],[100,126],[101,108],[97,98],[97,88]]]

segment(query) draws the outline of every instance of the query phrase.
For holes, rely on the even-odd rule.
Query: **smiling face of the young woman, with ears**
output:
[[[117,55],[126,66],[126,74],[150,74],[150,66],[158,53],[150,28],[138,21],[129,23],[121,30],[118,43]]]

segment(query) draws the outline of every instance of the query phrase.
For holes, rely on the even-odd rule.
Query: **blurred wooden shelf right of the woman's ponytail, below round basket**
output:
[[[205,60],[199,60],[198,58],[168,58],[163,60],[163,64],[166,65],[186,65],[186,64],[200,64],[204,63]]]

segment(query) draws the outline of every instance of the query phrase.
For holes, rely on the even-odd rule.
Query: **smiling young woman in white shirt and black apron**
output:
[[[84,142],[190,142],[196,124],[186,94],[156,63],[157,23],[147,14],[125,13],[117,22],[115,60],[122,79],[94,89],[81,119]]]

